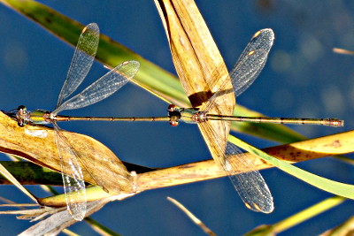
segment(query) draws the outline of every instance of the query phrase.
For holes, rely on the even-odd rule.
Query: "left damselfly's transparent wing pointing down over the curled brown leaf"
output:
[[[55,137],[60,158],[67,209],[75,220],[81,221],[86,214],[86,188],[78,157],[70,147],[56,123]]]

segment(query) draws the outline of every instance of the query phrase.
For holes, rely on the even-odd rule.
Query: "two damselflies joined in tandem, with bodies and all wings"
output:
[[[231,70],[230,78],[235,96],[241,95],[250,84],[257,79],[259,72],[266,64],[266,59],[273,46],[272,29],[258,31],[243,50],[241,57],[237,60]],[[212,95],[212,97],[201,108],[178,108],[173,104],[168,106],[168,115],[165,117],[150,118],[94,118],[94,117],[69,117],[60,116],[58,113],[63,110],[74,110],[93,103],[115,93],[119,88],[127,84],[135,73],[138,72],[140,64],[136,61],[127,61],[107,72],[103,77],[96,80],[88,88],[85,88],[78,95],[67,99],[81,85],[81,82],[88,74],[96,56],[99,41],[99,29],[95,23],[85,27],[77,43],[73,60],[63,88],[58,96],[58,103],[53,111],[34,110],[29,111],[25,106],[19,106],[17,110],[7,112],[8,115],[17,119],[19,126],[27,124],[52,124],[55,129],[58,156],[62,161],[62,154],[69,156],[70,168],[62,167],[62,177],[65,189],[67,209],[73,218],[82,220],[86,214],[86,192],[82,169],[85,169],[81,156],[75,153],[70,142],[65,139],[58,127],[58,121],[69,120],[108,120],[108,121],[166,121],[171,126],[177,126],[179,121],[197,123],[201,129],[207,130],[212,139],[225,139],[210,128],[214,120],[222,121],[246,121],[246,122],[271,122],[280,124],[312,124],[323,126],[343,126],[343,121],[335,118],[313,119],[313,118],[245,118],[232,117],[223,114],[212,114],[210,110],[218,106],[215,99],[227,93],[227,81]],[[218,78],[213,78],[218,80]],[[229,80],[228,78],[226,80]],[[228,91],[229,92],[229,91]],[[234,102],[234,101],[233,101]],[[240,194],[245,205],[255,211],[269,213],[273,211],[273,197],[265,180],[257,168],[242,154],[242,151],[234,144],[223,141],[226,144],[225,152],[214,159],[223,168],[231,179],[238,194]],[[237,156],[232,158],[230,156]],[[87,171],[87,170],[84,170]],[[236,174],[241,172],[241,174]],[[103,177],[104,178],[104,177]],[[99,181],[96,181],[99,183]],[[247,184],[245,184],[247,183]],[[102,186],[104,188],[104,186]],[[76,194],[71,194],[75,192]]]

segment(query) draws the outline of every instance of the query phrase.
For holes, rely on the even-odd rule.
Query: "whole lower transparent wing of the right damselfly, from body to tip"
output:
[[[273,197],[266,181],[250,159],[220,135],[224,130],[216,132],[211,122],[215,121],[198,123],[198,126],[216,164],[227,171],[227,176],[247,208],[264,213],[272,212]]]

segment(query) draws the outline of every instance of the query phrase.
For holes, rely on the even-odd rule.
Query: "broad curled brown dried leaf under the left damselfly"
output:
[[[111,194],[132,191],[130,174],[109,148],[89,136],[63,131],[81,157],[84,180]],[[60,171],[60,159],[53,129],[47,126],[19,127],[17,122],[0,112],[0,151],[19,156],[54,171]],[[70,168],[69,164],[64,164]]]

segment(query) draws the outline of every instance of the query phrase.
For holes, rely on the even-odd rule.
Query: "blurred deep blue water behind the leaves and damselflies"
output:
[[[84,25],[96,22],[103,34],[175,73],[153,1],[41,2]],[[237,103],[273,117],[333,117],[346,121],[341,128],[291,126],[309,138],[353,129],[354,57],[332,52],[334,47],[354,50],[353,3],[203,0],[196,4],[229,69],[255,32],[273,28],[275,42],[266,67]],[[73,47],[1,4],[0,15],[0,109],[12,110],[25,104],[29,109],[52,110],[73,57]],[[84,85],[105,71],[95,63]],[[66,113],[163,116],[165,110],[166,104],[158,98],[128,84],[89,109]],[[162,123],[77,122],[61,127],[102,141],[121,160],[134,164],[167,167],[211,158],[193,125],[172,128]],[[258,148],[276,144],[236,135]],[[354,184],[353,167],[332,158],[297,165],[328,179]],[[138,194],[122,202],[109,203],[92,217],[123,235],[204,235],[180,209],[166,201],[166,196],[171,196],[218,235],[241,235],[258,225],[274,224],[331,196],[276,168],[261,173],[275,202],[275,209],[269,215],[245,209],[229,180],[221,178]],[[15,187],[0,187],[0,196],[30,202]],[[348,201],[281,235],[316,235],[341,224],[353,211],[353,203]],[[2,234],[17,234],[30,225],[33,224],[13,216],[0,216]],[[83,235],[96,235],[85,223],[70,229]]]

